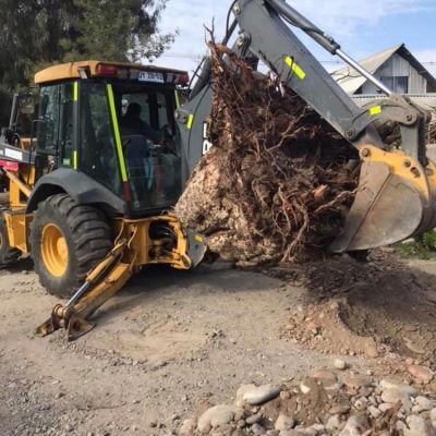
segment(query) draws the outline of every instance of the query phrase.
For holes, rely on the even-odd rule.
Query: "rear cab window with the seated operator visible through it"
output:
[[[181,194],[174,89],[113,84],[113,100],[132,198],[130,209],[173,206]]]

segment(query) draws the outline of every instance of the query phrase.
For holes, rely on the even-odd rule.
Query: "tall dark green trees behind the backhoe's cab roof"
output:
[[[174,35],[160,35],[167,0],[0,0],[0,87],[26,86],[63,61],[138,61],[158,57]]]

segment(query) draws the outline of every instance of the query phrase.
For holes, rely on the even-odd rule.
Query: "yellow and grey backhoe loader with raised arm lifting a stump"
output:
[[[359,152],[362,173],[334,252],[401,241],[436,225],[436,167],[426,157],[427,114],[395,95],[340,46],[283,0],[237,0],[225,44],[239,27],[235,56],[271,65]],[[359,108],[292,32],[298,27],[339,56],[386,96]],[[104,61],[48,68],[36,74],[38,111],[32,135],[20,136],[15,96],[0,138],[0,171],[9,206],[0,217],[0,265],[31,255],[48,292],[69,298],[39,328],[69,339],[89,316],[149,264],[196,266],[202,235],[183,229],[171,208],[210,144],[204,133],[214,86],[206,58],[191,86],[186,72]],[[399,125],[402,145],[388,148],[375,125]]]

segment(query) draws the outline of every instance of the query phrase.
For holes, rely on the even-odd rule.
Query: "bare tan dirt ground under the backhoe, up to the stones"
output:
[[[355,371],[387,373],[428,362],[436,263],[336,262],[342,267],[331,264],[324,276],[319,265],[306,267],[305,279],[298,268],[274,278],[219,263],[189,272],[147,269],[74,343],[65,341],[64,331],[34,336],[59,300],[39,287],[32,264],[1,270],[0,435],[170,435],[242,384],[289,380],[331,367],[338,356],[346,355]],[[338,288],[342,291],[332,292]],[[324,306],[332,307],[335,317]],[[332,319],[342,329],[331,330],[327,346],[314,339],[317,327],[328,337],[327,327],[312,323],[315,310],[324,312],[324,326]],[[301,328],[292,329],[295,314],[304,316]],[[399,330],[397,337],[419,332],[424,354],[388,349],[395,341],[386,344],[385,331],[396,337],[395,328],[416,323],[416,330]],[[312,336],[300,340],[306,330]],[[347,343],[330,346],[335,335],[347,343],[370,337],[377,356]]]

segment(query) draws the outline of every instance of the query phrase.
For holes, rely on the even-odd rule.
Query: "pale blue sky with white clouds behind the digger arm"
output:
[[[335,37],[355,59],[383,51],[400,43],[436,75],[435,0],[288,0],[325,33]],[[179,32],[174,44],[156,64],[195,70],[206,52],[204,26],[215,23],[216,36],[223,35],[230,0],[168,0],[160,31]],[[330,53],[304,39],[328,70],[340,65]],[[331,62],[331,63],[330,63]]]

